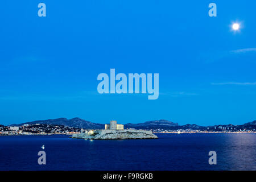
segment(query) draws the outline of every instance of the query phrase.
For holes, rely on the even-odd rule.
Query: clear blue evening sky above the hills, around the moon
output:
[[[40,2],[46,17],[38,16]],[[216,17],[208,15],[211,2]],[[255,7],[254,0],[1,2],[0,124],[254,121]],[[99,94],[97,76],[111,68],[159,73],[159,98]]]

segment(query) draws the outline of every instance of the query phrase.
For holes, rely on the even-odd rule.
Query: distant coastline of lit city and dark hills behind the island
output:
[[[81,133],[84,130],[104,129],[105,125],[85,121],[80,118],[48,119],[44,121],[33,121],[10,126],[0,125],[0,135],[51,135]],[[160,119],[144,123],[127,123],[125,129],[151,130],[153,133],[256,133],[256,121],[243,125],[178,125],[171,121]]]

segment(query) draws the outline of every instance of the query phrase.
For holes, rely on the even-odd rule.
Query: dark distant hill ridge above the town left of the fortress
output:
[[[54,125],[64,125],[69,127],[79,127],[83,129],[104,129],[104,124],[93,123],[93,122],[85,121],[84,119],[80,119],[80,118],[47,119],[47,120],[32,121],[32,122],[26,122],[26,123],[20,123],[20,124],[13,124],[10,126],[22,126],[24,124],[29,124],[29,125],[33,125],[33,124],[53,125],[54,124]]]

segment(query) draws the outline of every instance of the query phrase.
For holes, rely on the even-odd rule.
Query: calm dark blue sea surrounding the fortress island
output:
[[[0,170],[256,170],[256,134],[157,134],[159,139],[83,140],[1,136]],[[46,147],[46,165],[38,151]],[[217,152],[217,165],[208,152]]]

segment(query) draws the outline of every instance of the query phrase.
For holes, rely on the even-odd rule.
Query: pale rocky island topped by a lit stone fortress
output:
[[[110,121],[105,125],[105,130],[82,131],[73,134],[71,138],[81,139],[155,139],[158,138],[151,130],[123,129],[123,125],[117,125],[117,121]]]

